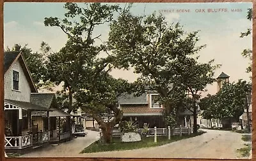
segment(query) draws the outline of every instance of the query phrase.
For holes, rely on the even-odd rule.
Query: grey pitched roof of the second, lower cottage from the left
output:
[[[43,106],[44,108],[51,108],[51,106],[54,106],[56,104],[56,97],[54,93],[33,93],[31,94],[31,102],[33,104],[38,104],[40,106]],[[57,108],[54,106],[53,108]]]

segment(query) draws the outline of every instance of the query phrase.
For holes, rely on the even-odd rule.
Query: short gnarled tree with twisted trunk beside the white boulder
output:
[[[113,127],[120,123],[123,116],[121,109],[118,108],[118,97],[129,93],[132,86],[126,80],[113,78],[106,71],[89,79],[89,84],[83,80],[79,83],[76,105],[90,113],[99,123],[104,143],[111,143]]]

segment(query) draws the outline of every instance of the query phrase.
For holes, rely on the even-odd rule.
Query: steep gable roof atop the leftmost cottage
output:
[[[4,74],[13,66],[15,62],[19,60],[20,66],[22,67],[24,74],[29,82],[31,92],[38,92],[35,83],[32,80],[31,73],[26,64],[26,60],[22,56],[22,52],[4,52]]]

